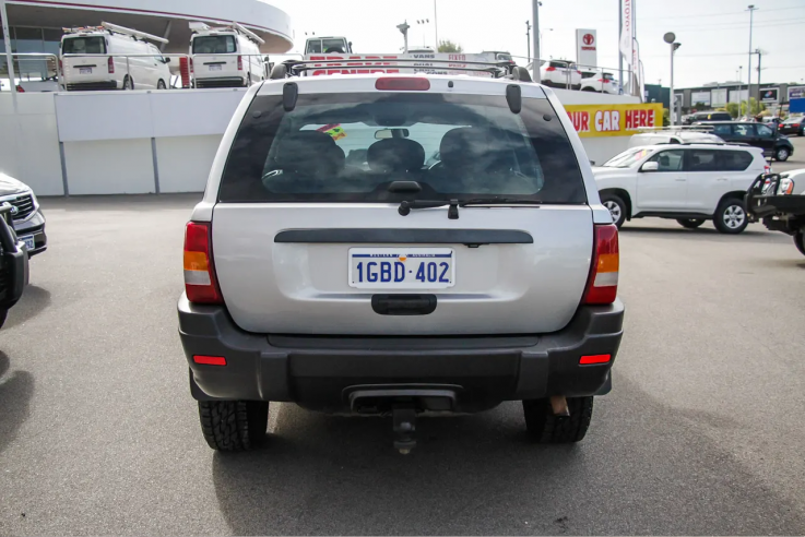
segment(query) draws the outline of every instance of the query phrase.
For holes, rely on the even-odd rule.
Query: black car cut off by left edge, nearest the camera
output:
[[[0,326],[22,297],[28,281],[28,255],[17,239],[11,217],[13,205],[0,202]]]

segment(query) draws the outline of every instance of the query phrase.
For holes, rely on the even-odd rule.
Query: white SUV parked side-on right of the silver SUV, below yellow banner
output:
[[[749,223],[746,191],[769,169],[758,147],[671,144],[632,147],[593,174],[618,227],[658,216],[691,229],[711,219],[719,231],[739,234]]]

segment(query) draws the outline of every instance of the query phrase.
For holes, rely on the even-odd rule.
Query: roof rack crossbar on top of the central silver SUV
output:
[[[416,69],[422,71],[430,71],[441,69],[445,71],[465,71],[476,73],[489,73],[495,79],[501,79],[510,74],[511,63],[508,61],[461,61],[462,65],[474,67],[455,67],[457,60],[434,60],[423,58],[378,58],[378,59],[339,59],[339,60],[286,60],[285,65],[291,74],[298,74],[305,71],[321,69],[321,65],[331,64],[334,68],[343,67],[344,69],[360,68],[390,68],[399,67],[401,69]],[[402,64],[401,64],[402,63]],[[427,64],[425,64],[427,63]],[[437,65],[438,64],[438,65]],[[422,74],[427,74],[422,72]]]

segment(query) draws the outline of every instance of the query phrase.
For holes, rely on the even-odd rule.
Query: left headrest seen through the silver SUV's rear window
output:
[[[344,166],[344,151],[324,132],[299,131],[284,138],[276,153],[276,166],[300,174],[335,172]]]

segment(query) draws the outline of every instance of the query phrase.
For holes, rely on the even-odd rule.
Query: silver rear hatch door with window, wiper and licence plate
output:
[[[593,243],[577,157],[541,90],[512,114],[506,85],[472,84],[472,95],[378,92],[374,80],[306,93],[325,86],[300,80],[293,111],[270,93],[282,86],[263,87],[213,212],[214,264],[240,327],[516,334],[570,321]]]

